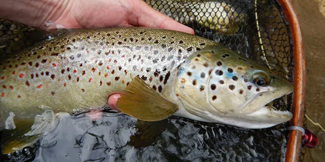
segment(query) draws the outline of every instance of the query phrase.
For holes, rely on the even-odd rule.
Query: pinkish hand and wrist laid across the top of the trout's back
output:
[[[154,10],[142,0],[0,0],[0,3],[3,4],[1,18],[41,29],[141,26],[194,34],[190,27]]]

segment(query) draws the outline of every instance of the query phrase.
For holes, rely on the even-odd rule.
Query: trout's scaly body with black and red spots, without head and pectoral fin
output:
[[[162,93],[180,63],[216,45],[188,35],[141,27],[78,30],[1,58],[1,120],[9,111],[33,118],[41,105],[70,113],[100,108],[134,77]]]

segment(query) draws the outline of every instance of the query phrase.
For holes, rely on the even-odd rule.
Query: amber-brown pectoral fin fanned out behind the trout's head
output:
[[[123,113],[143,121],[165,119],[178,109],[138,77],[122,92],[116,106]]]

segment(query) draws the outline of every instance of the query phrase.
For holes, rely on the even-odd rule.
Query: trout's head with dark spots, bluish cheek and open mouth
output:
[[[292,93],[292,84],[226,48],[205,48],[189,57],[176,84],[176,96],[196,120],[267,128],[292,118],[291,112],[268,106]]]

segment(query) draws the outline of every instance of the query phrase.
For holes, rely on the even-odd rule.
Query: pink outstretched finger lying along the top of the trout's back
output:
[[[135,14],[135,17],[137,18],[137,24],[139,26],[158,27],[194,34],[192,28],[180,24],[168,16],[165,16],[162,13],[154,10],[142,0],[139,0],[139,2],[137,2],[133,8],[134,9],[132,12]]]

